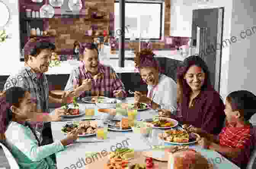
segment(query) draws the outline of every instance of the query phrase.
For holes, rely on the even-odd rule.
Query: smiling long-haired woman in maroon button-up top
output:
[[[199,56],[190,56],[177,72],[178,111],[159,112],[182,124],[190,124],[211,134],[219,134],[224,124],[224,104],[218,92],[211,86],[210,72]]]

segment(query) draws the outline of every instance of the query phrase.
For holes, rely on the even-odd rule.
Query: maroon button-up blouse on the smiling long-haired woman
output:
[[[182,117],[175,119],[183,124],[190,124],[202,128],[207,133],[217,135],[221,132],[226,115],[224,103],[218,92],[213,90],[201,91],[193,99],[189,108],[189,96],[183,99],[177,114]]]

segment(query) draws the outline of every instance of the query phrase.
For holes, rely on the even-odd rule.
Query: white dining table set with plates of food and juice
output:
[[[134,103],[134,97],[127,97],[121,100],[122,103]],[[93,103],[84,103],[82,100],[77,100],[79,105],[79,110],[83,113],[86,109],[94,109],[94,116],[82,116],[74,118],[63,118],[58,122],[51,122],[51,130],[53,135],[53,141],[58,141],[66,138],[66,134],[61,131],[61,128],[69,123],[76,121],[84,121],[88,119],[97,119],[99,117],[98,107]],[[51,113],[54,113],[52,110]],[[138,111],[137,120],[144,120],[154,118],[158,115],[158,112],[152,109]],[[114,119],[121,119],[122,117],[127,117],[123,111],[118,111]],[[162,129],[152,129],[152,134],[150,137],[144,137],[141,134],[134,133],[131,131],[111,131],[107,133],[107,139],[98,140],[96,135],[79,137],[74,144],[70,144],[64,147],[64,150],[56,153],[56,163],[58,169],[76,169],[76,168],[94,168],[93,166],[99,163],[99,160],[106,159],[107,152],[113,152],[120,148],[130,148],[134,149],[135,152],[143,152],[152,150],[155,156],[163,156],[166,147],[173,146],[173,144],[163,142],[158,138],[159,133],[163,133],[165,130]],[[190,144],[189,147],[192,149],[197,149],[206,158],[213,161],[214,169],[232,168],[239,169],[231,161],[227,160],[224,156],[215,152],[213,150],[201,149],[197,144]],[[218,159],[216,161],[216,159]],[[221,162],[220,162],[221,161]],[[165,166],[165,165],[163,165]],[[99,167],[101,168],[101,167]],[[161,167],[161,168],[167,168]]]

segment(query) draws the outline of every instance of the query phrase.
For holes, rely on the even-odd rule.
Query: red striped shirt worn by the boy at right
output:
[[[241,153],[236,158],[230,159],[233,163],[241,168],[245,168],[251,153],[251,141],[253,137],[251,135],[250,125],[243,127],[234,127],[226,122],[224,127],[219,133],[220,146],[227,146],[233,149],[241,149]]]

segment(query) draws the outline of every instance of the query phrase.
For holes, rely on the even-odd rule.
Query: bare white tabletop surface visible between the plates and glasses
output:
[[[133,103],[134,98],[126,98],[125,100],[122,100],[124,103]],[[94,104],[86,104],[79,102],[79,106],[81,110],[95,109],[95,116],[98,115],[98,107]],[[157,113],[154,110],[144,110],[144,111],[138,111],[137,119],[146,119],[146,118],[152,118],[154,115],[157,115]],[[117,115],[117,118],[122,117],[122,115]],[[115,117],[115,118],[116,118]],[[74,119],[69,119],[69,122],[72,122],[74,120],[81,120],[84,119],[85,116],[81,116]],[[62,122],[51,122],[51,128],[53,133],[53,139],[54,141],[64,139],[66,135],[61,132],[61,127],[67,124],[68,121],[62,121]],[[154,135],[154,139],[158,139],[157,135],[158,133],[162,133],[163,130],[157,130],[153,129],[152,133]],[[150,143],[146,141],[145,138],[142,136],[133,133],[132,131],[126,131],[126,132],[118,132],[118,131],[109,131],[107,135],[107,139],[104,140],[104,142],[97,142],[97,143],[79,143],[79,144],[72,144],[70,146],[67,146],[63,151],[56,153],[56,161],[57,161],[57,167],[58,169],[68,169],[68,168],[74,168],[74,165],[77,164],[81,158],[85,159],[86,157],[91,157],[94,155],[94,158],[98,156],[97,158],[101,158],[100,154],[101,152],[107,151],[115,151],[117,148],[121,147],[128,147],[131,149],[134,149],[135,151],[142,151],[151,149]],[[80,137],[78,141],[96,141],[96,136],[90,136],[86,138]],[[159,145],[158,143],[156,143]],[[156,146],[157,146],[156,145]],[[165,146],[170,146],[170,144],[165,144]],[[212,150],[201,150],[198,146],[192,146],[192,148],[198,149],[202,153],[202,155],[205,155],[206,158],[209,157],[209,160],[214,161],[212,163],[215,164],[215,168],[223,168],[224,166],[226,168],[232,168],[232,169],[238,169],[233,163],[231,163],[229,160],[221,156],[219,153],[214,152]],[[97,152],[99,152],[97,154]],[[161,153],[156,153],[159,156],[161,156]],[[162,153],[163,154],[163,153]],[[217,162],[216,162],[217,159]],[[219,163],[219,160],[222,160],[221,163]],[[96,162],[96,161],[94,161]],[[85,162],[86,163],[86,162]],[[88,167],[88,166],[87,166]],[[86,165],[82,165],[82,167],[79,167],[81,169],[86,168]]]

